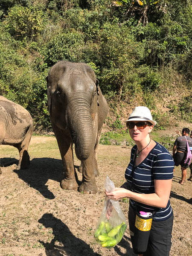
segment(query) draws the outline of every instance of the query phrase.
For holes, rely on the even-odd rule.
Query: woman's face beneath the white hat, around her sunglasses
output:
[[[131,121],[134,122],[135,124],[140,121]],[[151,126],[146,126],[144,129],[138,129],[137,126],[135,125],[134,128],[130,129],[129,128],[129,134],[131,136],[131,139],[136,141],[142,141],[145,140],[148,136],[148,134],[152,131],[153,125]]]

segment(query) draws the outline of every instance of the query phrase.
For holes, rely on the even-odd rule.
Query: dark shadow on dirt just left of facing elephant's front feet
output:
[[[18,177],[32,188],[38,190],[41,195],[48,199],[54,199],[55,195],[45,185],[47,181],[61,182],[64,176],[63,164],[59,159],[34,158],[25,170],[14,170]]]

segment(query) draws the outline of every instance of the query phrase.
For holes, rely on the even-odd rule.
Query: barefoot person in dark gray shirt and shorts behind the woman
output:
[[[186,159],[186,151],[187,151],[186,138],[187,138],[189,147],[192,147],[192,138],[189,137],[189,133],[190,133],[189,128],[183,128],[182,134],[180,134],[179,131],[176,131],[176,132],[177,134],[182,136],[177,137],[177,139],[175,140],[172,157],[175,162],[175,166],[179,166],[179,165],[181,166],[182,176],[181,176],[181,180],[179,180],[179,183],[183,185],[183,182],[186,177],[186,169],[189,167],[188,164],[184,163]],[[177,152],[175,153],[176,149],[177,149]]]

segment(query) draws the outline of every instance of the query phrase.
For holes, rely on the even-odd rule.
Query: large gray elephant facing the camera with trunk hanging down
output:
[[[96,194],[97,148],[108,113],[93,70],[84,63],[59,61],[47,76],[48,109],[64,166],[62,189]],[[73,165],[73,143],[81,160],[79,186]]]

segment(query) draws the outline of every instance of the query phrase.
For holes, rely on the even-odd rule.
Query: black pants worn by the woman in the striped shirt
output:
[[[132,232],[134,232],[135,218],[135,212],[131,207],[129,207],[129,229]],[[138,252],[133,248],[134,253],[143,254],[143,256],[169,256],[169,252],[172,246],[172,227],[173,214],[166,221],[152,221],[147,250],[145,252]],[[134,236],[131,236],[131,242],[133,239]]]

